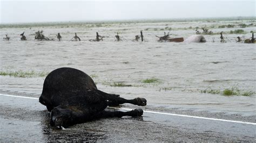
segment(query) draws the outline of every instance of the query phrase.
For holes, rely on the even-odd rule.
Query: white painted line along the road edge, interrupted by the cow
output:
[[[29,98],[29,99],[39,99],[35,97],[25,97],[25,96],[16,96],[16,95],[6,95],[6,94],[0,94],[2,96],[9,96],[9,97],[18,97],[18,98]],[[113,108],[109,107],[112,109],[123,109],[123,110],[132,110],[132,109],[127,109],[127,108]],[[174,114],[174,113],[164,113],[164,112],[155,112],[155,111],[146,111],[143,110],[146,113],[156,113],[156,114],[161,114],[161,115],[170,115],[170,116],[180,116],[180,117],[188,117],[188,118],[197,118],[197,119],[206,119],[206,120],[217,120],[217,121],[227,121],[231,123],[240,123],[240,124],[251,124],[251,125],[256,125],[256,123],[251,123],[251,122],[246,122],[246,121],[237,121],[237,120],[225,120],[225,119],[216,119],[216,118],[207,118],[207,117],[198,117],[198,116],[190,116],[190,115],[179,115],[179,114]]]

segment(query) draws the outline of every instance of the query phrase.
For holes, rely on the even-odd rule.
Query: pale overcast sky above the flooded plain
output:
[[[0,23],[256,16],[250,1],[3,1]]]

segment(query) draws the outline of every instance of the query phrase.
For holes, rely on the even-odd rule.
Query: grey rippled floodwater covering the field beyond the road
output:
[[[67,23],[64,27],[1,28],[1,36],[4,37],[5,32],[8,32],[11,39],[0,40],[0,71],[49,73],[56,68],[72,67],[91,75],[102,91],[119,94],[124,98],[145,97],[147,107],[153,110],[168,111],[176,108],[254,116],[255,45],[238,43],[234,39],[237,36],[250,38],[250,31],[255,30],[255,27],[242,28],[247,34],[226,34],[226,43],[220,42],[219,34],[204,35],[207,40],[205,43],[158,42],[155,37],[163,36],[164,31],[159,29],[166,26],[173,28],[170,31],[171,37],[187,38],[195,33],[194,28],[188,28],[190,26],[236,23],[251,22],[113,23],[98,27],[88,26],[90,24],[71,27]],[[213,32],[235,29],[241,28],[211,28]],[[63,40],[33,40],[33,33],[38,30],[43,30],[46,37],[55,39],[57,33],[60,33]],[[143,30],[145,41],[132,41],[135,35],[140,34],[140,30]],[[19,34],[23,31],[27,41],[20,40]],[[75,32],[81,41],[69,41]],[[96,32],[105,36],[103,41],[89,41],[96,38]],[[122,41],[114,41],[117,32]],[[25,92],[39,97],[45,76],[23,78],[0,75],[0,92]],[[143,82],[150,78],[156,78],[158,82]],[[112,86],[114,83],[123,83],[129,87]],[[206,89],[223,91],[231,88],[254,94],[223,96],[201,93]]]

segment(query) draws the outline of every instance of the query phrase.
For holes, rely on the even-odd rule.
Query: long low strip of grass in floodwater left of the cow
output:
[[[48,75],[48,73],[45,72],[36,72],[34,70],[31,71],[0,71],[0,76],[13,76],[13,77],[44,77]]]

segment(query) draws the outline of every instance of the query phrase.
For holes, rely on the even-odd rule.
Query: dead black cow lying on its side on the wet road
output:
[[[142,116],[142,109],[128,112],[105,109],[123,103],[146,105],[145,98],[124,99],[98,90],[89,75],[74,68],[51,71],[45,78],[39,102],[50,112],[50,124],[59,128],[98,118]]]

